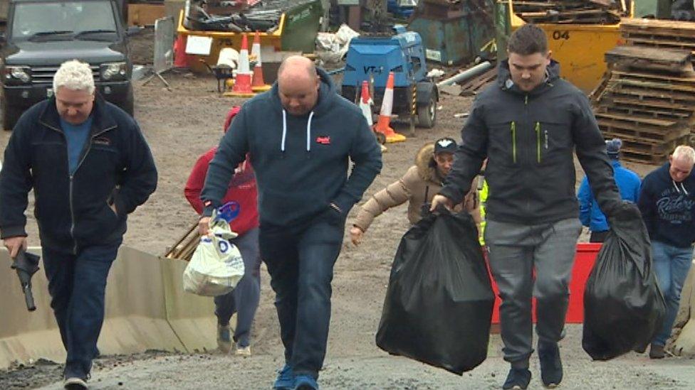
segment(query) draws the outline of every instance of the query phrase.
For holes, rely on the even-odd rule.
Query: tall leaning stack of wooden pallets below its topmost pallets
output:
[[[623,141],[623,158],[661,163],[695,131],[695,71],[688,50],[617,46],[591,99],[605,139]]]

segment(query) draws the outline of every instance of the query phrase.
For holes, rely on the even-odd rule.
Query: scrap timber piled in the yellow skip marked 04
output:
[[[512,0],[528,23],[616,24],[627,16],[625,0]]]

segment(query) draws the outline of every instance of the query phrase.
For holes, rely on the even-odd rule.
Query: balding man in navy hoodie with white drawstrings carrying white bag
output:
[[[330,76],[293,56],[273,88],[246,102],[221,139],[201,195],[204,216],[219,207],[246,153],[256,170],[261,258],[285,347],[273,389],[318,389],[345,217],[381,170],[380,146]],[[201,219],[201,234],[208,221]]]

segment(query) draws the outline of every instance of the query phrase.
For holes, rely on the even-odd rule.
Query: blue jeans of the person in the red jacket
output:
[[[258,228],[254,228],[231,240],[244,259],[244,277],[231,293],[216,296],[215,315],[219,325],[229,325],[229,319],[236,313],[234,341],[240,347],[248,347],[251,342],[251,324],[261,298],[261,256],[258,253]]]

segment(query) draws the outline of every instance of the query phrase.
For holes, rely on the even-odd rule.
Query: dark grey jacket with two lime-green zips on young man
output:
[[[488,158],[487,219],[542,224],[576,218],[575,151],[605,214],[620,204],[588,99],[560,79],[555,61],[547,72],[541,85],[523,92],[511,82],[508,63],[501,63],[498,84],[478,95],[461,130],[463,142],[441,195],[461,202]]]

